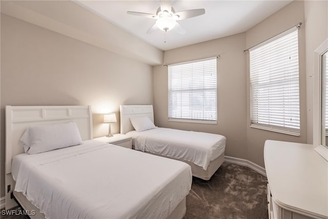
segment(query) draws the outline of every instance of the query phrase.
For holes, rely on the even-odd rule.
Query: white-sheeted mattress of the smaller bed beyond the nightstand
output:
[[[136,150],[189,161],[207,170],[211,161],[224,153],[226,137],[219,134],[169,128],[126,133]]]

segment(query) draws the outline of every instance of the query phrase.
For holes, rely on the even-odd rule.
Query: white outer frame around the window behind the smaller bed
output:
[[[170,64],[167,65],[168,66],[168,121],[170,122],[182,122],[182,123],[199,123],[199,124],[217,124],[217,118],[218,118],[218,107],[217,107],[217,58],[218,56],[214,56],[214,57],[208,57],[208,58],[200,58],[200,59],[194,59],[192,61],[187,61],[187,62],[180,62],[180,63],[175,63],[175,64]],[[211,88],[210,90],[215,90],[215,120],[205,120],[205,119],[196,119],[196,118],[175,118],[170,116],[171,114],[171,98],[170,98],[170,92],[172,92],[172,90],[170,90],[170,68],[174,67],[174,66],[181,66],[181,65],[185,65],[185,64],[192,64],[192,63],[199,63],[199,62],[204,62],[204,61],[208,61],[208,60],[215,60],[215,74],[216,74],[216,78],[215,78],[215,89]],[[212,64],[213,65],[213,64]],[[190,90],[192,90],[192,88],[190,88]],[[205,91],[206,88],[202,88],[198,90],[203,90]],[[192,91],[190,91],[192,92]],[[202,104],[202,108],[204,108],[204,105]]]

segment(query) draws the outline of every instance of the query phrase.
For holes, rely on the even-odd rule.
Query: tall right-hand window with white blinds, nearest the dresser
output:
[[[250,50],[251,127],[299,135],[298,30]]]

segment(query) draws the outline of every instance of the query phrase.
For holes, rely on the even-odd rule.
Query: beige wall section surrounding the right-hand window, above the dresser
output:
[[[305,28],[304,4],[294,1],[246,32],[246,46],[252,47],[265,39],[287,30],[299,22],[303,23],[298,31],[299,41],[299,80],[300,80],[300,136],[292,136],[250,127],[250,77],[249,53],[247,53],[247,149],[248,160],[264,167],[263,146],[265,140],[306,143],[306,75],[305,75]]]

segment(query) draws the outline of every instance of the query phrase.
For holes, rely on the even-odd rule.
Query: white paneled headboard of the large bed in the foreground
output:
[[[12,157],[24,153],[19,139],[27,127],[69,121],[76,123],[82,140],[93,138],[90,106],[6,106],[6,174]]]

